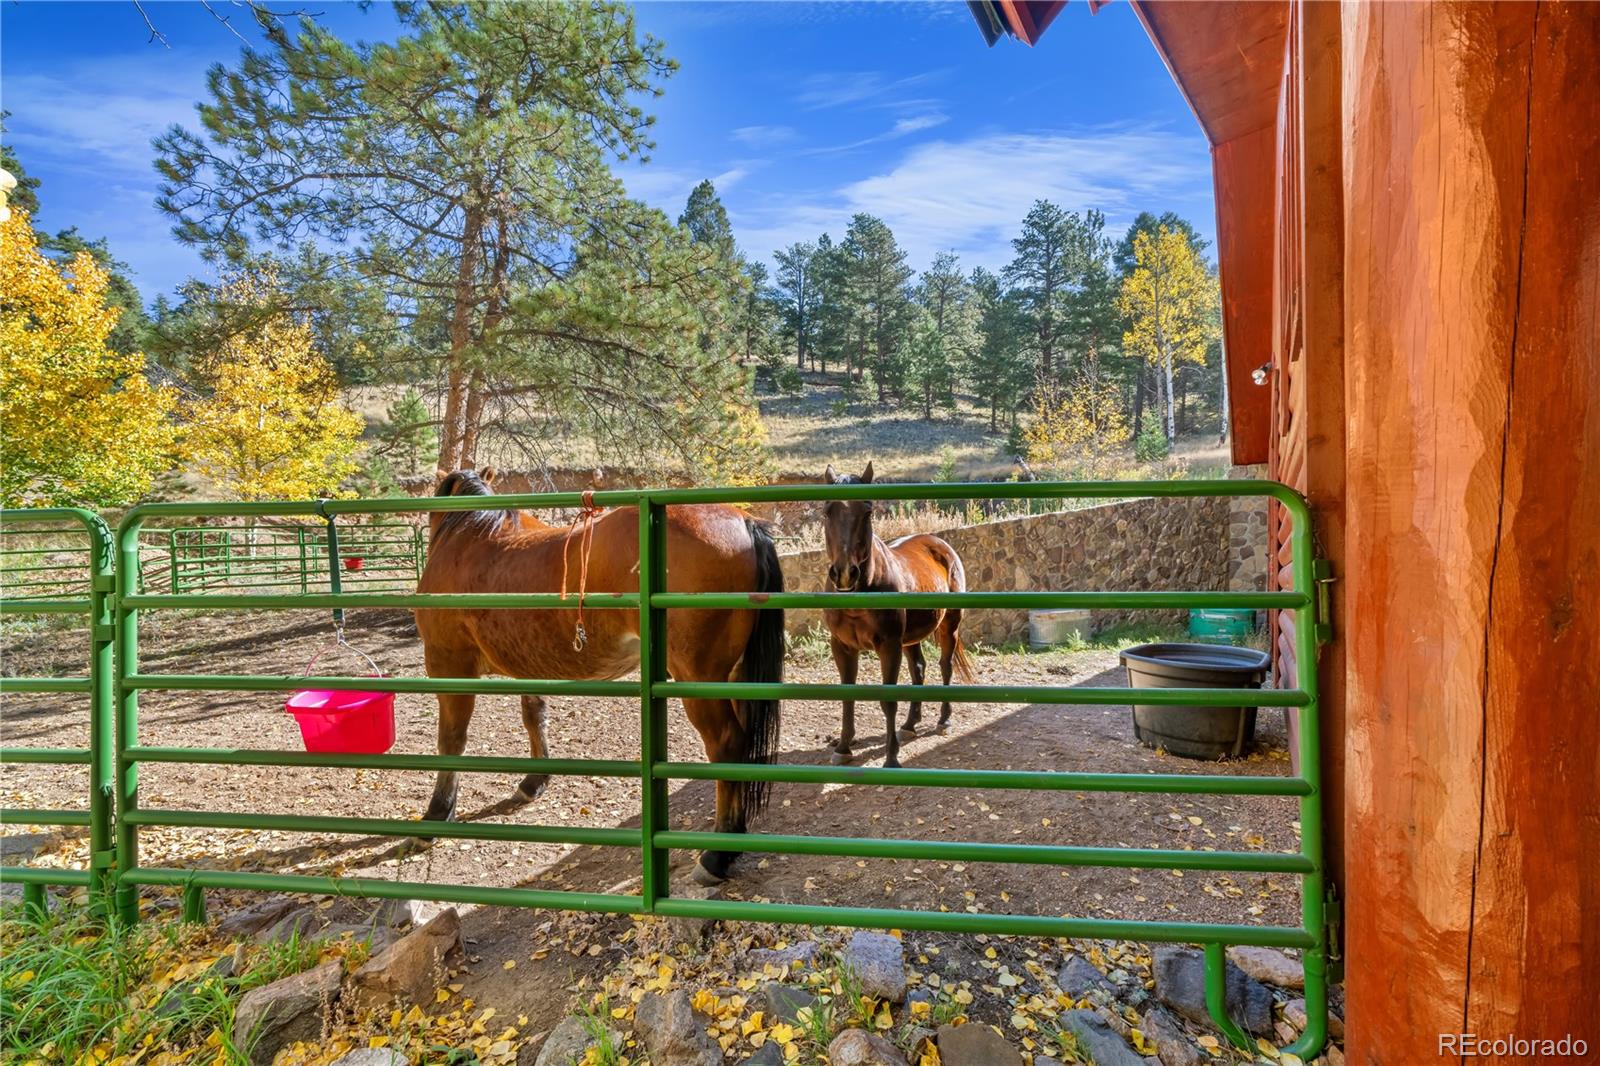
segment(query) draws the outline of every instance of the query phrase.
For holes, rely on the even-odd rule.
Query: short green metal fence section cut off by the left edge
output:
[[[67,543],[59,543],[66,538]],[[27,543],[43,541],[43,543]],[[86,696],[88,747],[0,747],[0,763],[88,767],[88,804],[77,810],[0,808],[0,823],[82,826],[90,831],[90,869],[6,866],[0,882],[21,884],[24,900],[45,906],[46,885],[86,887],[98,909],[112,890],[112,536],[99,515],[78,507],[0,511],[0,616],[78,615],[88,627],[85,672],[77,677],[3,677],[0,691]]]

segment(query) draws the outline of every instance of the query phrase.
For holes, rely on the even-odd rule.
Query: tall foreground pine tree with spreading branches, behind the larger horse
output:
[[[438,359],[440,472],[507,403],[646,461],[696,455],[739,386],[699,344],[726,336],[730,279],[611,173],[648,157],[634,101],[674,69],[661,43],[603,2],[398,13],[395,42],[301,22],[211,72],[203,133],[157,146],[178,235],[234,262],[298,253],[278,262],[296,293],[374,291]]]

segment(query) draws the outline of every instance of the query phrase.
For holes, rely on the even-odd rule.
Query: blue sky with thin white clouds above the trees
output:
[[[242,32],[245,14],[234,11]],[[392,37],[384,5],[310,5],[350,38]],[[3,3],[6,141],[43,179],[43,229],[107,237],[146,301],[192,274],[154,208],[150,138],[194,126],[205,70],[240,42],[198,5]],[[1034,198],[1141,210],[1214,230],[1205,138],[1133,11],[1070,3],[1037,48],[986,48],[963,3],[642,3],[680,70],[630,192],[677,218],[712,178],[750,254],[878,214],[922,267],[941,250],[998,267]]]

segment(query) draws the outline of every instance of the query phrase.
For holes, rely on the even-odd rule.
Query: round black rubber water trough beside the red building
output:
[[[1141,643],[1125,648],[1131,688],[1259,688],[1266,651],[1216,643]],[[1133,706],[1133,735],[1189,759],[1242,755],[1256,735],[1254,707]]]

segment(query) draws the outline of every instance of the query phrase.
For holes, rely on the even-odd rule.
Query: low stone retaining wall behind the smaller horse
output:
[[[1237,501],[1246,506],[1251,501]],[[1174,591],[1230,587],[1232,499],[1133,499],[1083,511],[1027,515],[939,531],[966,567],[968,591]],[[1246,520],[1248,522],[1248,520]],[[826,552],[782,557],[784,584],[821,592]],[[1235,586],[1237,587],[1237,586]],[[1184,624],[1187,611],[1141,611]],[[1094,631],[1134,611],[1096,610]],[[789,611],[789,632],[821,627],[821,611]],[[1026,610],[973,610],[962,619],[968,643],[1027,639]]]

